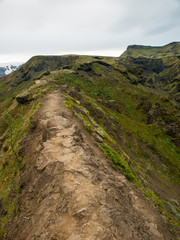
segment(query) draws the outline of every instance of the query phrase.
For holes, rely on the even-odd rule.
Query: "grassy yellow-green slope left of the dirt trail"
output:
[[[26,88],[31,101],[18,104],[14,97],[1,103],[0,138],[0,238],[6,223],[16,213],[16,197],[20,193],[19,173],[31,163],[19,155],[21,141],[31,128],[31,118],[41,105],[42,97],[52,90],[51,83],[31,84]]]

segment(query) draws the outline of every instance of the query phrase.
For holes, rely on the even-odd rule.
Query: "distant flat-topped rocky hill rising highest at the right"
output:
[[[119,66],[133,84],[142,84],[170,93],[180,103],[180,43],[164,47],[130,46]]]

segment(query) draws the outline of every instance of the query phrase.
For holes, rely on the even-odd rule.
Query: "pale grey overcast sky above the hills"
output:
[[[180,40],[180,0],[0,0],[0,62]]]

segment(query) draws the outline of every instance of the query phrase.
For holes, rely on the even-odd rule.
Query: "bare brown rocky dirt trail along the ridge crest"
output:
[[[110,166],[59,91],[24,141],[19,211],[6,240],[173,239],[158,210]]]

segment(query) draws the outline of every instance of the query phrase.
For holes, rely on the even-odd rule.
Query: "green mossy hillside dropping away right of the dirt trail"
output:
[[[57,84],[68,84],[70,87],[75,87],[75,89],[86,93],[79,96],[80,92],[77,99],[71,99],[69,105],[66,103],[67,106],[74,109],[72,102],[77,100],[76,112],[78,112],[79,106],[83,106],[88,111],[88,117],[86,114],[76,113],[85,122],[86,129],[92,133],[92,124],[89,124],[88,120],[91,116],[95,119],[96,124],[101,126],[103,131],[106,131],[116,141],[117,148],[123,150],[128,156],[126,163],[128,163],[136,180],[138,179],[145,189],[150,188],[151,191],[157,192],[157,195],[160,196],[158,197],[159,201],[168,201],[165,195],[161,196],[156,186],[159,185],[159,189],[168,189],[171,187],[167,182],[178,184],[179,151],[174,145],[173,139],[166,135],[166,126],[162,128],[157,123],[146,124],[147,112],[139,105],[144,102],[144,96],[146,96],[145,98],[148,99],[151,106],[159,103],[160,107],[171,114],[172,119],[176,119],[178,116],[177,103],[169,99],[168,93],[162,90],[130,84],[125,81],[121,73],[116,71],[113,74],[111,71],[111,79],[109,79],[108,70],[106,72],[101,66],[98,67],[97,63],[93,65],[92,69],[100,76],[83,77],[75,72],[69,74],[59,72],[54,75]],[[112,82],[115,83],[116,87],[112,86]],[[118,111],[106,106],[106,102],[112,99],[118,104]],[[161,120],[164,121],[160,117],[159,121]],[[107,142],[105,143],[107,144]],[[113,151],[116,151],[113,149],[115,145],[107,144]],[[106,151],[107,153],[108,151]],[[110,156],[115,155],[109,154],[108,156],[107,154],[107,157],[110,158]],[[154,178],[157,181],[153,181]],[[172,198],[177,199],[176,194],[172,193]],[[158,201],[155,202],[157,204]]]

